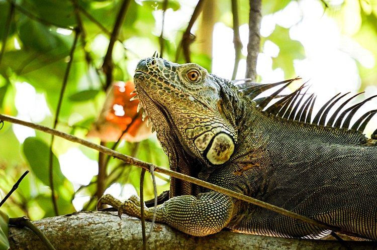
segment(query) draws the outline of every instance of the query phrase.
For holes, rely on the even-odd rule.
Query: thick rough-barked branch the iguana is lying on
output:
[[[109,212],[79,212],[33,222],[56,249],[141,249],[139,219]],[[147,232],[151,223],[146,222]],[[46,249],[27,228],[11,227],[11,249]],[[221,231],[195,237],[156,223],[147,240],[149,249],[343,249],[339,241],[291,239]],[[375,249],[377,242],[347,241],[352,249]]]

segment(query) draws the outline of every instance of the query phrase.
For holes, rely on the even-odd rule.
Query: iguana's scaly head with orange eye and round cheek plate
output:
[[[224,98],[224,82],[194,64],[176,64],[161,58],[141,60],[134,82],[153,126],[159,134],[171,130],[192,157],[208,166],[226,163],[237,142],[235,119]],[[163,144],[173,143],[161,141]],[[177,143],[177,142],[174,142]],[[164,147],[166,148],[166,147]],[[165,152],[168,153],[168,152]]]

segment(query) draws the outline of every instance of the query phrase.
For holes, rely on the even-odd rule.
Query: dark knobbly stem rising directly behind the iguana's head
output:
[[[182,40],[180,41],[180,45],[182,46],[184,60],[188,63],[191,62],[190,57],[190,44],[192,44],[195,40],[195,36],[191,33],[191,29],[193,28],[195,21],[197,21],[200,13],[203,10],[204,0],[199,0],[193,15],[191,16],[189,25],[187,25],[186,31],[183,33]],[[179,48],[177,49],[177,53],[175,55],[175,61],[178,61],[179,56]]]

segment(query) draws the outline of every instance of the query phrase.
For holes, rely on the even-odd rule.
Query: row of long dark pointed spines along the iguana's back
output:
[[[330,109],[338,103],[340,99],[344,96],[348,95],[350,92],[340,95],[340,93],[334,95],[330,100],[328,100],[315,114],[314,118],[312,119],[312,112],[314,103],[316,101],[316,95],[310,94],[307,96],[308,86],[306,83],[298,87],[295,91],[290,94],[282,95],[280,94],[282,90],[286,89],[292,82],[298,80],[300,78],[285,80],[276,83],[269,83],[269,84],[260,84],[260,83],[253,83],[247,82],[248,79],[241,80],[243,82],[237,83],[239,81],[233,81],[235,86],[238,88],[239,92],[243,93],[247,98],[253,100],[257,107],[260,110],[263,110],[267,114],[275,115],[280,118],[285,118],[288,120],[300,121],[304,123],[311,123],[317,126],[326,126],[326,127],[333,127],[333,128],[342,128],[342,129],[350,129],[354,131],[358,131],[363,133],[366,124],[369,120],[373,117],[375,113],[377,113],[377,109],[370,110],[363,115],[359,119],[357,119],[351,128],[349,128],[351,118],[354,116],[356,111],[367,101],[371,100],[372,98],[376,97],[377,95],[373,95],[359,103],[356,103],[346,109],[343,108],[346,104],[358,96],[358,93],[355,94],[348,99],[346,99],[343,103],[339,105],[339,107],[332,113],[331,117],[326,122],[327,115],[330,112]],[[266,97],[256,98],[259,94],[263,93],[264,91],[271,89],[275,86],[285,84],[271,95]],[[303,92],[304,88],[306,88],[305,92]],[[340,96],[339,96],[340,95]],[[339,97],[338,97],[339,96]],[[306,98],[305,98],[306,97]],[[275,103],[271,104],[271,101],[276,98],[281,98]],[[270,104],[268,107],[267,105]],[[342,111],[343,110],[343,111]],[[372,133],[372,139],[377,139],[377,130]]]

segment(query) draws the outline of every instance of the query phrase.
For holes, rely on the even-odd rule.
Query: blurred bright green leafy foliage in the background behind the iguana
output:
[[[319,0],[306,0],[319,1]],[[195,1],[170,0],[166,6],[165,17],[175,17],[176,27],[164,31],[160,39],[162,26],[163,0],[131,1],[125,21],[120,27],[118,41],[113,51],[113,80],[132,80],[133,70],[138,60],[160,52],[163,46],[164,58],[184,62],[180,41],[190,16],[195,8]],[[194,2],[194,3],[193,3]],[[291,1],[263,1],[262,15],[274,15]],[[323,1],[325,3],[326,1]],[[75,36],[78,44],[73,51],[73,61],[63,94],[57,129],[78,137],[85,137],[91,124],[97,119],[106,96],[106,75],[102,65],[108,50],[111,33],[117,19],[120,0],[0,0],[0,112],[19,116],[48,127],[53,127],[62,91],[63,79],[70,63],[70,51]],[[374,59],[377,57],[377,6],[366,1],[336,1],[337,6],[324,6],[327,15],[339,22],[344,34],[348,34],[362,47],[369,50]],[[240,25],[248,23],[248,1],[239,1]],[[213,12],[216,22],[232,27],[230,1],[216,2]],[[171,20],[171,19],[169,19]],[[197,26],[201,25],[201,19]],[[166,25],[166,24],[165,24]],[[194,27],[193,33],[197,27]],[[207,34],[209,35],[209,34]],[[197,37],[191,54],[192,60],[210,69],[211,55],[201,51],[196,43],[205,42],[205,37]],[[290,38],[289,28],[276,26],[268,37],[262,37],[261,48],[265,41],[271,41],[279,47],[279,54],[272,58],[272,67],[281,68],[285,76],[295,77],[294,60],[305,57],[305,48],[299,41]],[[216,41],[215,41],[216,42]],[[243,45],[246,47],[246,44]],[[224,48],[233,50],[231,48]],[[177,56],[178,55],[178,56]],[[377,61],[377,60],[376,60]],[[234,62],[227,62],[233,67]],[[375,69],[359,65],[364,84],[371,84],[377,79]],[[27,82],[34,89],[33,98],[42,95],[49,112],[39,118],[30,112],[21,112],[15,100],[19,89],[17,83]],[[42,99],[43,99],[42,98]],[[33,99],[25,99],[33,101]],[[40,108],[35,103],[26,103],[34,109]],[[0,191],[4,196],[26,169],[31,173],[23,180],[19,189],[2,206],[2,210],[11,217],[27,215],[31,219],[53,216],[51,190],[49,188],[49,145],[50,136],[36,132],[35,136],[25,141],[16,137],[16,126],[5,123],[0,131]],[[20,135],[18,135],[20,138]],[[99,139],[91,141],[100,143]],[[112,148],[115,143],[106,143]],[[59,157],[71,149],[78,149],[87,159],[98,161],[98,152],[56,139],[53,145],[54,184],[59,213],[73,212],[74,198],[93,197],[97,190],[97,176],[93,176],[88,185],[72,182],[60,170]],[[121,153],[134,156],[143,161],[168,167],[164,155],[155,138],[140,143],[121,142],[117,147]],[[73,161],[74,174],[81,175],[82,164]],[[72,170],[71,170],[72,171]],[[128,166],[115,159],[109,159],[105,186],[119,183],[122,187],[131,184],[139,191],[140,169]],[[148,175],[148,174],[147,174]],[[158,193],[168,189],[165,177],[160,177]],[[148,180],[148,178],[146,179]],[[117,194],[115,194],[117,195]],[[145,199],[153,197],[151,181],[145,183]],[[93,209],[96,199],[85,204]],[[80,209],[80,207],[78,207]]]

